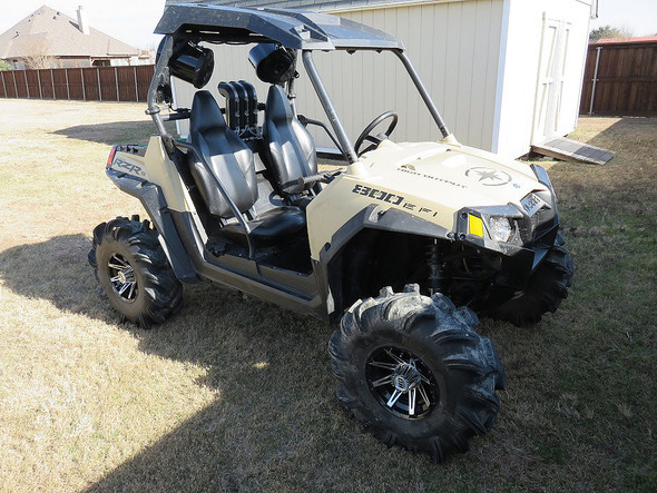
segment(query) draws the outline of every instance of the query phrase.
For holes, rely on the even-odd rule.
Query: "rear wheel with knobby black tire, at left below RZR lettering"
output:
[[[147,220],[119,217],[94,229],[89,264],[95,269],[100,294],[122,319],[149,328],[176,313],[183,286],[174,275]]]

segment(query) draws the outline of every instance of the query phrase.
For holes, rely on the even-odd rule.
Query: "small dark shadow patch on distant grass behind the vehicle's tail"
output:
[[[174,122],[165,124],[167,130],[176,132]],[[69,139],[85,140],[98,144],[147,144],[150,136],[155,132],[153,121],[112,121],[109,124],[76,125],[52,134],[65,136]]]

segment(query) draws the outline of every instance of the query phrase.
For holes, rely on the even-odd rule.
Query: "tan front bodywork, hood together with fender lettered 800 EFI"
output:
[[[547,178],[542,181],[549,184]],[[395,209],[404,213],[405,218],[414,216],[422,224],[438,226],[431,235],[443,230],[447,238],[465,231],[461,224],[463,216],[459,214],[464,210],[479,210],[482,217],[493,213],[521,216],[520,239],[527,244],[531,241],[533,219],[551,226],[553,198],[548,186],[537,179],[529,166],[491,152],[458,144],[385,140],[327,184],[306,207],[311,254],[318,260],[323,249],[357,229],[362,220],[359,214],[370,209],[365,218],[369,224],[377,224],[388,210]],[[538,217],[540,208],[531,203],[536,196],[542,197],[540,200],[548,206],[545,218]],[[521,205],[526,197],[531,199],[527,203],[530,208],[527,216],[520,213],[527,210]],[[400,231],[424,228],[411,220],[395,226],[393,229]],[[482,237],[471,238],[470,243],[503,250]]]

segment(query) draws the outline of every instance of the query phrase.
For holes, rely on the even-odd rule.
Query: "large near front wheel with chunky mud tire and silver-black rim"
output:
[[[356,302],[329,343],[337,397],[388,446],[429,453],[435,462],[488,433],[504,371],[477,315],[441,294],[390,287]]]

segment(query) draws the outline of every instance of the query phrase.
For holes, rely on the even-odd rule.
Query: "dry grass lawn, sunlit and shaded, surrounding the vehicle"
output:
[[[657,119],[582,118],[607,166],[542,162],[576,263],[531,329],[484,321],[507,368],[490,435],[442,465],[334,397],[327,325],[217,287],[143,331],[87,265],[140,211],[105,177],[144,105],[0,100],[0,490],[657,490]]]

